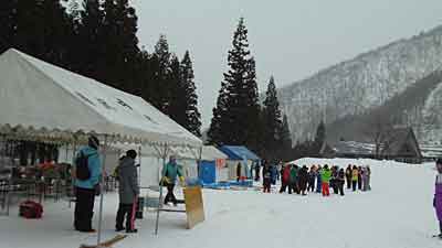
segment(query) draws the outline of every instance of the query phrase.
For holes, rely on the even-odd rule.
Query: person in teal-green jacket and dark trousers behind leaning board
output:
[[[178,204],[177,197],[175,197],[173,194],[175,183],[177,177],[179,177],[181,184],[185,182],[185,177],[182,176],[182,172],[179,168],[180,166],[177,164],[175,157],[170,157],[169,162],[162,168],[161,185],[167,186],[165,205],[167,205],[169,202],[172,202],[175,206]]]

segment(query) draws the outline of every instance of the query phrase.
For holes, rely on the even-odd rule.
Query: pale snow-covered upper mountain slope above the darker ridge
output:
[[[290,118],[293,138],[304,140],[313,137],[322,119],[330,123],[382,106],[441,67],[442,26],[438,26],[323,69],[278,89],[278,97]],[[441,110],[435,108],[441,94],[442,86],[430,94],[422,108],[427,118],[422,139],[431,137],[442,122]]]

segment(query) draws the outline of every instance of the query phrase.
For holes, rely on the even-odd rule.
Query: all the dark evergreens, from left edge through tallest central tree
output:
[[[170,52],[165,35],[160,35],[154,51],[140,47],[138,17],[128,0],[62,1],[9,0],[1,4],[0,52],[15,47],[140,96],[201,136],[189,51],[179,60]],[[273,77],[261,105],[244,19],[240,19],[233,34],[228,64],[208,143],[246,145],[267,160],[294,159],[305,147],[311,148],[308,142],[292,148],[287,117],[280,109]]]

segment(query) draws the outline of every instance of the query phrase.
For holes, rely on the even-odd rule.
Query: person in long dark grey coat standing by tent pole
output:
[[[116,217],[115,230],[120,231],[123,222],[126,216],[126,233],[137,233],[135,229],[135,205],[139,195],[138,175],[137,168],[135,165],[135,159],[137,152],[135,150],[128,150],[126,157],[119,161],[118,164],[118,195],[119,205]]]

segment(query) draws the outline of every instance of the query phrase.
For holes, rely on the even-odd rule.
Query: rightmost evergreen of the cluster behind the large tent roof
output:
[[[197,137],[201,137],[201,114],[198,110],[198,95],[194,85],[193,65],[189,51],[186,51],[181,61],[181,84],[182,91],[176,97],[183,97],[186,118],[182,126]],[[181,96],[182,95],[182,96]]]

